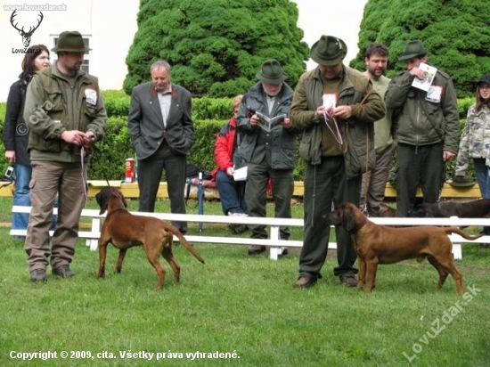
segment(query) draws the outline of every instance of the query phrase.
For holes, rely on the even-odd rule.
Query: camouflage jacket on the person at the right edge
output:
[[[490,166],[490,109],[483,105],[480,110],[473,104],[468,110],[466,125],[462,131],[460,150],[456,162],[456,175],[465,175],[470,159],[485,158]]]

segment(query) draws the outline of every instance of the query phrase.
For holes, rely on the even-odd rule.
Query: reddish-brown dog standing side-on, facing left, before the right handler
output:
[[[327,224],[342,225],[352,234],[355,252],[359,257],[359,280],[357,289],[362,289],[367,273],[366,291],[375,287],[378,264],[393,264],[409,258],[419,260],[427,257],[439,273],[438,288],[447,274],[453,275],[458,293],[462,294],[462,277],[453,263],[451,241],[447,233],[458,233],[466,240],[481,237],[470,236],[454,227],[419,226],[391,228],[372,223],[352,203],[343,203],[327,216]]]

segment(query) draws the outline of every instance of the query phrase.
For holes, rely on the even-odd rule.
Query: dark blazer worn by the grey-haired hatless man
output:
[[[172,84],[172,102],[167,127],[164,128],[159,97],[153,84],[149,82],[135,86],[127,126],[137,159],[150,157],[164,139],[174,151],[189,155],[194,143],[191,114],[191,93],[182,86]]]

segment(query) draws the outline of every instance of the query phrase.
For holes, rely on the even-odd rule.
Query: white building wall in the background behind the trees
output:
[[[210,0],[211,2],[212,0]],[[298,4],[298,27],[305,32],[304,40],[311,46],[323,34],[342,38],[347,43],[350,61],[357,53],[357,34],[367,0],[293,0]],[[12,53],[22,48],[19,32],[13,29],[8,7],[53,5],[65,11],[42,11],[44,20],[33,33],[30,45],[45,44],[51,50],[53,37],[64,30],[78,30],[90,37],[90,73],[99,77],[102,89],[121,89],[127,74],[126,56],[137,30],[138,0],[0,0],[0,101],[6,101],[9,88],[20,74],[23,53]],[[18,11],[19,25],[37,23],[35,10]],[[53,55],[52,55],[53,56]],[[314,62],[306,64],[315,67]]]

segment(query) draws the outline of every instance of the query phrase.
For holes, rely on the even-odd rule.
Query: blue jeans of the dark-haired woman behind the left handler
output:
[[[13,205],[30,207],[29,182],[32,177],[32,167],[15,164],[15,192],[13,192]],[[56,200],[57,201],[57,200]],[[57,207],[57,204],[54,204]],[[51,229],[56,226],[56,216],[53,216]],[[14,213],[12,215],[12,229],[27,229],[29,214]]]

